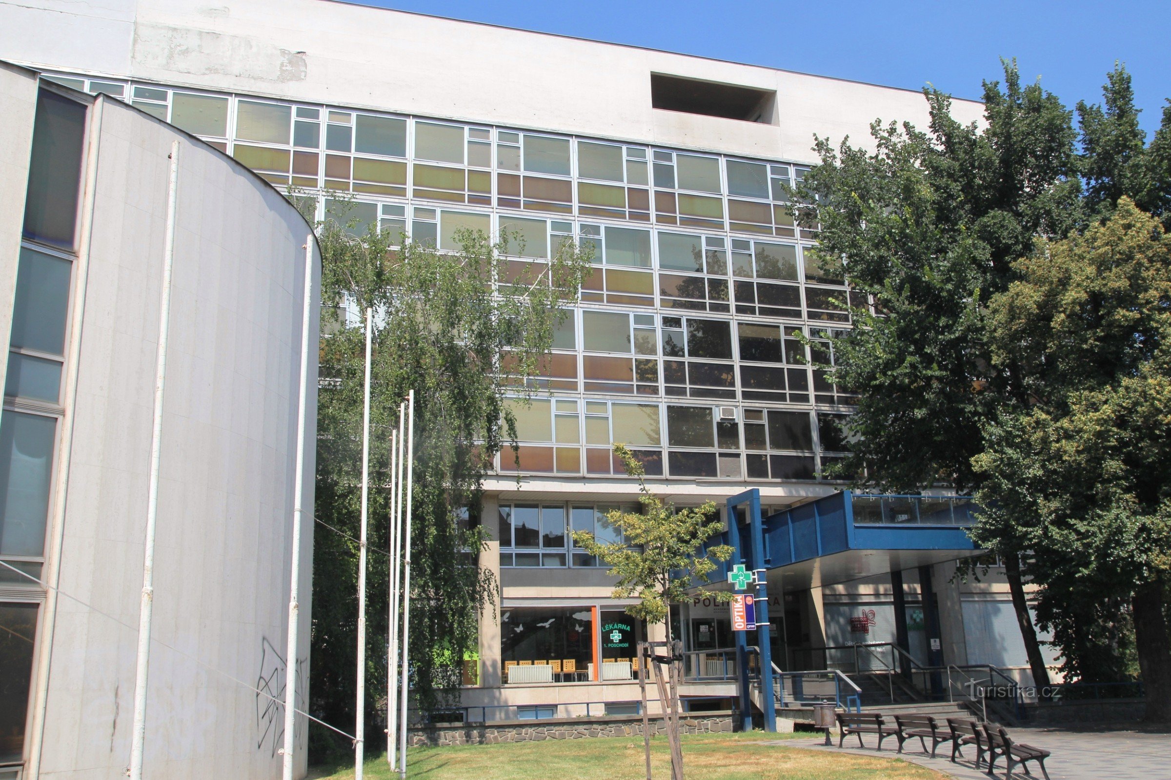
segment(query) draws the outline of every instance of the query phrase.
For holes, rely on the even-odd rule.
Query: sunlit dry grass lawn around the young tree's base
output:
[[[810,734],[799,734],[809,737]],[[889,757],[851,755],[759,745],[785,734],[763,732],[683,738],[683,762],[696,780],[944,780],[946,775]],[[412,747],[408,776],[418,780],[644,780],[638,737],[557,739],[541,743]],[[651,740],[651,769],[669,778],[666,739]],[[365,778],[389,780],[386,758],[365,765]],[[352,767],[316,767],[309,778],[351,780]]]

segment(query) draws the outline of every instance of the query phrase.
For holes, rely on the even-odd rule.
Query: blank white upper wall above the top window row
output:
[[[331,0],[0,0],[0,51],[46,69],[813,161],[814,136],[926,125],[917,91]],[[651,73],[776,91],[778,124],[651,108]],[[924,74],[924,81],[930,74]],[[970,122],[980,103],[956,101]]]

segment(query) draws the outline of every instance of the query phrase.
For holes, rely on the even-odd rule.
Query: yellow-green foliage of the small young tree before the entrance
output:
[[[626,613],[648,623],[670,626],[671,605],[687,601],[690,588],[707,584],[715,561],[732,555],[728,545],[704,547],[704,543],[724,530],[713,502],[677,509],[653,495],[643,481],[643,464],[625,444],[615,444],[614,454],[626,474],[638,478],[641,512],[611,510],[607,519],[623,536],[621,543],[601,544],[588,531],[574,532],[574,544],[601,558],[617,578],[615,599],[638,599]],[[703,551],[701,551],[703,548]],[[703,591],[703,588],[700,588]],[[707,593],[726,600],[726,593]],[[667,628],[670,639],[670,628]]]

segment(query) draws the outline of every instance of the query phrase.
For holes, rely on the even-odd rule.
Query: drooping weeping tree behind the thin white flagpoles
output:
[[[389,230],[363,233],[344,214],[319,226],[319,241],[326,338],[315,513],[341,533],[319,526],[314,540],[311,706],[330,723],[352,718],[365,339],[364,322],[352,315],[370,308],[367,633],[371,650],[385,647],[377,637],[386,636],[389,595],[378,584],[388,581],[389,558],[377,551],[389,550],[390,430],[400,401],[415,389],[409,654],[413,703],[433,711],[448,704],[459,661],[478,649],[477,615],[492,608],[494,584],[477,561],[486,534],[475,519],[484,476],[515,439],[506,398],[526,396],[539,382],[589,257],[566,242],[515,279],[505,255],[515,255],[516,236],[492,243],[482,233],[460,230],[438,251]],[[379,651],[367,657],[367,712],[374,718],[385,711],[386,660]],[[367,733],[381,733],[375,725]]]

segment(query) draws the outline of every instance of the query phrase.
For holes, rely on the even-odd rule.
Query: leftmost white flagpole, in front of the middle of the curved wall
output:
[[[146,493],[146,538],[143,544],[143,593],[138,607],[138,661],[135,672],[135,719],[130,736],[130,780],[142,780],[146,738],[146,678],[150,670],[150,629],[155,609],[155,526],[158,522],[158,467],[163,450],[163,389],[166,385],[166,344],[171,331],[171,271],[174,267],[174,213],[179,191],[179,141],[171,144],[171,173],[166,191],[166,232],[163,243],[163,299],[158,312],[158,352],[155,364],[155,424],[150,442],[150,486]]]

